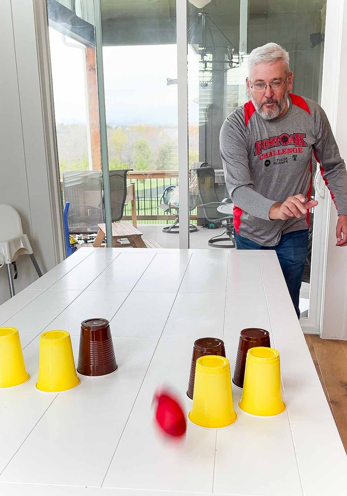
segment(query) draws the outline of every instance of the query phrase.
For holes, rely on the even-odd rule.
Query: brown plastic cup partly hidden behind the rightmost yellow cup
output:
[[[238,341],[235,370],[232,378],[233,384],[241,389],[243,388],[247,352],[250,348],[256,348],[257,346],[271,347],[269,332],[253,327],[243,329]]]

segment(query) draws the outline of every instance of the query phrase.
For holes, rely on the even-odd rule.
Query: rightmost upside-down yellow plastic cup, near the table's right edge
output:
[[[251,415],[271,417],[286,410],[282,399],[280,354],[273,348],[250,348],[238,406]]]

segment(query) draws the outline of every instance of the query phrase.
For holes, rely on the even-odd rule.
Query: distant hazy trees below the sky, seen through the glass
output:
[[[199,159],[199,128],[189,126],[189,165]],[[107,126],[110,169],[178,170],[177,127],[151,124]],[[57,124],[60,176],[88,170],[87,128]]]

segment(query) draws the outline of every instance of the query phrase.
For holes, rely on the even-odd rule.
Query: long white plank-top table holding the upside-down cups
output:
[[[111,321],[114,375],[60,394],[36,390],[39,335]],[[274,252],[82,248],[0,307],[18,327],[31,380],[0,390],[3,496],[346,495],[347,457]],[[223,338],[234,367],[239,331],[270,331],[286,412],[230,428],[188,422],[182,443],[153,428],[160,384],[185,396],[193,341]],[[16,483],[16,484],[14,484]]]

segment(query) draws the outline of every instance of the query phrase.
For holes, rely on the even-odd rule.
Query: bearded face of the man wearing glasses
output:
[[[270,83],[280,84],[275,84],[277,88],[271,88]],[[283,61],[262,62],[252,68],[246,84],[248,96],[255,110],[263,119],[275,119],[286,107],[288,94],[293,86],[293,73],[287,74]],[[260,87],[255,85],[267,86],[266,89],[259,91]]]

